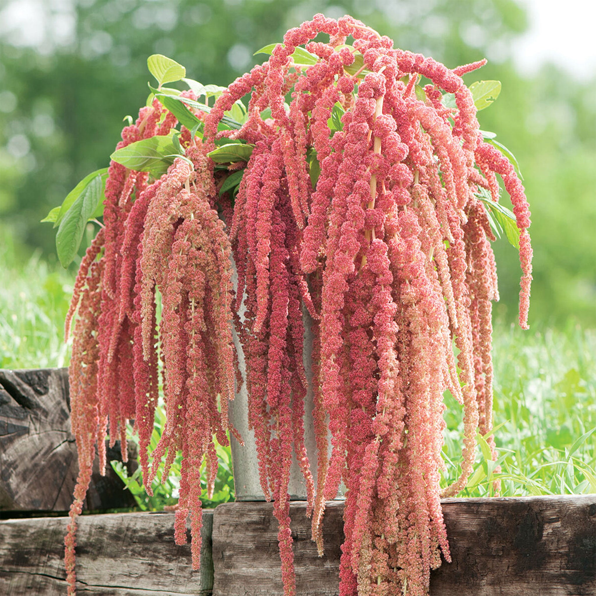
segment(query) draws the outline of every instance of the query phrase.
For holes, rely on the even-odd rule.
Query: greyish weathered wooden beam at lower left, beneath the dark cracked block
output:
[[[66,517],[0,522],[0,594],[66,594]],[[105,596],[208,596],[213,586],[213,510],[203,512],[201,569],[188,544],[174,544],[173,513],[119,513],[79,518],[77,592]]]

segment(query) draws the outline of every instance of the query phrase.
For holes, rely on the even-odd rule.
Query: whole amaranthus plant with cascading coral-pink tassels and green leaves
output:
[[[319,34],[328,41],[312,41]],[[269,60],[225,89],[151,57],[159,86],[123,130],[107,173],[88,176],[50,218],[68,262],[103,198],[67,317],[80,462],[70,593],[95,444],[104,462],[106,433],[125,442],[128,420],[148,493],[162,459],[167,470],[182,454],[175,539],[186,541],[190,516],[196,569],[201,463],[209,492],[213,437],[226,445],[234,433],[228,400],[246,383],[287,596],[296,592],[293,450],[321,552],[325,501],[345,483],[340,594],[368,596],[427,593],[441,554],[450,560],[440,497],[465,487],[477,432],[494,447],[491,226],[519,246],[524,328],[532,279],[523,186],[476,119],[500,85],[464,84],[484,60],[449,69],[349,16],[316,15],[263,51]],[[190,90],[163,87],[180,79]],[[497,175],[513,214],[498,203]],[[303,438],[303,308],[313,321],[316,487]],[[236,374],[232,321],[246,357]],[[167,422],[150,453],[159,361]],[[461,476],[440,490],[447,390],[463,404],[465,430]]]

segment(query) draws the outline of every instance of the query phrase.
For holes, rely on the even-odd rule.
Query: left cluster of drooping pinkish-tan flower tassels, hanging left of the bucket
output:
[[[124,129],[119,147],[169,132],[175,123],[155,100]],[[187,156],[176,159],[152,184],[146,174],[111,163],[105,228],[87,250],[75,283],[66,328],[68,333],[77,310],[69,377],[80,472],[66,536],[69,593],[75,592],[76,516],[89,485],[96,442],[105,471],[108,421],[110,443],[119,438],[126,458],[126,424],[134,419],[149,493],[162,458],[167,473],[182,452],[175,538],[177,544],[187,541],[190,515],[193,567],[199,566],[201,464],[207,462],[207,492],[212,494],[218,465],[213,437],[228,444],[227,403],[234,397],[232,268],[224,223],[212,206],[215,187],[206,157],[194,142]],[[168,416],[150,470],[160,358]]]

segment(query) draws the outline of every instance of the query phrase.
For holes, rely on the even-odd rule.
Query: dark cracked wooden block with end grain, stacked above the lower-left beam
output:
[[[108,461],[120,460],[119,445],[108,450]],[[0,370],[0,465],[0,510],[68,510],[79,466],[66,368]],[[131,445],[129,474],[136,465]],[[133,507],[122,489],[109,464],[100,476],[96,460],[84,508]]]

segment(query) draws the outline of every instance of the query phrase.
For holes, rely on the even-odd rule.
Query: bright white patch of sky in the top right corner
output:
[[[576,77],[596,75],[596,2],[594,0],[519,0],[530,27],[514,42],[516,63],[533,73],[550,60]]]

